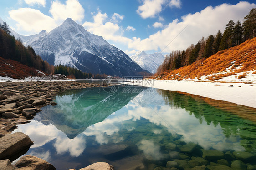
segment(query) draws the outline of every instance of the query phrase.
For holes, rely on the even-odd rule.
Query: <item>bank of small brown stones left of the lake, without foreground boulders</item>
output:
[[[100,86],[72,80],[0,82],[0,137],[10,134],[16,125],[30,123],[41,107],[56,105],[52,98],[57,93]]]

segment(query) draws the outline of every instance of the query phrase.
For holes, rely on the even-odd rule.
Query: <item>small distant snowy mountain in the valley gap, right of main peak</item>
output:
[[[147,54],[145,51],[139,51],[135,55],[132,55],[131,59],[141,66],[141,68],[155,73],[159,65],[163,63],[164,55],[162,53]]]

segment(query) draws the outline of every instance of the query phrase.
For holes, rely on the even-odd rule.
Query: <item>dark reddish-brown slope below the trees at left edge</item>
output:
[[[45,76],[46,74],[28,67],[18,61],[4,59],[0,57],[0,77],[10,77],[13,79],[22,79],[29,76]]]

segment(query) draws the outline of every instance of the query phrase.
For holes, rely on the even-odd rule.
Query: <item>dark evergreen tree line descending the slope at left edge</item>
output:
[[[0,24],[0,56],[5,59],[19,61],[23,65],[33,67],[48,74],[53,73],[54,70],[52,65],[49,65],[47,61],[42,60],[39,55],[36,55],[31,46],[25,47],[20,38],[15,40],[6,22],[3,25]]]

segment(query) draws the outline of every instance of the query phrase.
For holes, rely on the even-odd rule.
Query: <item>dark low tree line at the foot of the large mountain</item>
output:
[[[72,68],[64,65],[57,65],[54,67],[55,74],[65,75],[68,78],[72,79],[104,79],[108,75],[106,74],[92,74],[92,73],[85,73],[77,68]]]

